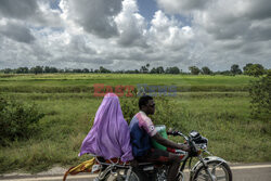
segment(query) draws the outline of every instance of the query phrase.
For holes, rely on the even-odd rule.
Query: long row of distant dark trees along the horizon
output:
[[[190,75],[228,75],[228,76],[234,76],[234,75],[249,75],[259,77],[267,73],[267,69],[261,64],[251,64],[248,63],[243,67],[243,70],[240,68],[237,64],[233,64],[229,70],[223,72],[212,72],[209,67],[204,66],[202,68],[197,66],[190,66],[189,67],[190,73],[182,72],[177,66],[172,67],[166,67],[163,66],[153,67],[150,68],[150,64],[141,66],[139,69],[134,70],[111,70],[103,66],[100,66],[99,69],[88,69],[88,68],[66,68],[66,69],[60,69],[56,67],[50,67],[50,66],[35,66],[35,67],[18,67],[18,68],[5,68],[1,69],[1,73],[4,74],[54,74],[54,73],[111,73],[111,74],[190,74]]]

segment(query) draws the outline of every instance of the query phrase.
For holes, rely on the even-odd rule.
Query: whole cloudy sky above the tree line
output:
[[[0,69],[271,68],[270,0],[0,0]]]

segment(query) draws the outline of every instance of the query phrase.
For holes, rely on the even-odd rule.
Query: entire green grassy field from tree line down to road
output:
[[[209,139],[209,151],[230,161],[270,161],[271,124],[249,114],[248,76],[184,76],[125,74],[0,75],[0,95],[22,104],[35,104],[46,116],[40,132],[28,140],[0,147],[0,172],[72,166],[91,128],[102,98],[93,85],[175,86],[175,96],[155,98],[156,124],[188,133],[198,130]],[[137,112],[137,96],[121,98],[122,111]],[[165,101],[166,100],[166,101]],[[133,106],[133,107],[131,107]],[[124,111],[126,112],[126,111]],[[134,113],[136,114],[136,113]],[[129,120],[128,120],[129,121]],[[176,140],[182,141],[182,140]]]

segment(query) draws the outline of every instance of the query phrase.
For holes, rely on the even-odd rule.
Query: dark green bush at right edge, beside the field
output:
[[[251,82],[249,88],[251,98],[251,115],[256,118],[270,119],[271,117],[271,72],[259,80]]]

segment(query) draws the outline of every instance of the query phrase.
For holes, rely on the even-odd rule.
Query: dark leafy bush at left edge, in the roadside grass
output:
[[[0,145],[7,146],[15,140],[27,139],[38,131],[38,120],[44,115],[36,105],[0,98]]]

